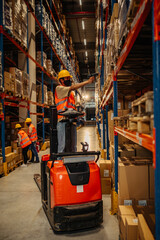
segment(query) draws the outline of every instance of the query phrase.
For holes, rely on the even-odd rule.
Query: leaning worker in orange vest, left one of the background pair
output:
[[[17,129],[18,145],[22,148],[22,154],[24,158],[24,165],[22,166],[27,166],[27,152],[32,142],[29,139],[27,133],[22,130],[22,126],[20,124],[16,124],[15,129]]]

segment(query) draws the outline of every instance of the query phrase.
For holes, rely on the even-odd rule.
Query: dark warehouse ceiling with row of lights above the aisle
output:
[[[69,34],[80,68],[80,80],[95,72],[96,0],[62,0]],[[86,43],[85,43],[86,39]]]

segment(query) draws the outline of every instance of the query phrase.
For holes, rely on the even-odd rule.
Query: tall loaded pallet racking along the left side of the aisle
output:
[[[35,115],[38,120],[39,140],[44,143],[45,139],[49,137],[49,105],[53,104],[59,70],[69,70],[74,81],[79,81],[75,55],[73,48],[71,49],[68,43],[69,34],[65,33],[66,26],[60,20],[60,11],[62,9],[57,10],[57,5],[53,1],[47,0],[37,2],[3,0],[0,3],[0,118],[4,163],[5,147],[8,146],[5,140],[7,112],[10,114],[13,112],[16,115],[15,121],[19,121],[20,109],[26,109],[28,117]],[[32,29],[34,25],[35,29]],[[34,42],[34,45],[31,44],[31,41]],[[9,50],[12,54],[6,55]],[[30,89],[27,85],[28,95],[20,94],[18,91],[15,94],[15,91],[4,89],[4,69],[14,67],[21,73],[18,70],[19,62],[21,64],[24,62],[26,74],[30,77]],[[30,66],[32,66],[31,72]],[[36,79],[35,83],[32,82],[32,78]],[[36,94],[38,88],[39,98],[35,98],[33,101],[32,90]],[[35,107],[33,108],[33,106]],[[6,111],[6,109],[8,110]],[[21,118],[24,122],[24,117],[27,116],[25,116],[26,114],[22,115]]]

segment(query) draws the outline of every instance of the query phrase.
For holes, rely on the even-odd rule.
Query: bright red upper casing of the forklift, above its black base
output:
[[[90,172],[88,184],[74,186],[62,160],[54,162],[54,166],[50,169],[51,208],[102,199],[99,167],[95,162],[89,162],[88,165]]]

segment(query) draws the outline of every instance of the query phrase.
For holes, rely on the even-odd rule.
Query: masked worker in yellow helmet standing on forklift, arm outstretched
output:
[[[67,70],[62,70],[58,74],[58,81],[60,85],[56,87],[55,90],[55,104],[57,107],[57,113],[63,112],[67,109],[76,110],[75,106],[75,98],[74,98],[74,90],[77,90],[87,84],[90,84],[94,81],[94,77],[90,77],[87,81],[72,84],[71,82],[72,76]],[[65,117],[58,115],[58,123],[57,123],[57,132],[58,132],[58,152],[64,152],[65,150]],[[76,137],[76,128],[74,131],[75,141]],[[75,149],[76,151],[76,149]]]

